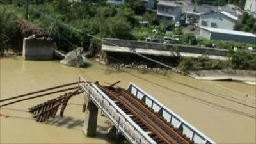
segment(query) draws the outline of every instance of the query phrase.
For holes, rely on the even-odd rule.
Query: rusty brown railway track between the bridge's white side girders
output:
[[[147,105],[141,103],[122,88],[97,85],[102,92],[116,103],[130,118],[147,132],[156,143],[191,144],[193,141],[182,135],[173,125],[167,123]]]

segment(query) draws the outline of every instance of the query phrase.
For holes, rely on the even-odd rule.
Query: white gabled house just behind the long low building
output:
[[[200,15],[198,26],[232,30],[237,20],[237,17],[224,11],[204,13]]]

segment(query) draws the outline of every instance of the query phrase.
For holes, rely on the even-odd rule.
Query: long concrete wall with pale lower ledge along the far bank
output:
[[[140,42],[134,40],[120,40],[115,38],[102,39],[102,51],[122,52],[170,57],[192,57],[198,58],[207,54],[210,59],[228,60],[228,50],[208,47],[195,47],[191,45],[159,44],[152,42]]]

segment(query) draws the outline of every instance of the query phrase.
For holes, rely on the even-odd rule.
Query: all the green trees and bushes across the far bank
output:
[[[25,4],[22,1],[13,1],[9,4],[0,4],[0,45],[3,50],[8,44],[20,35],[15,20],[24,19]],[[102,37],[122,38],[127,40],[145,40],[146,37],[159,38],[177,36],[173,44],[195,45],[204,47],[219,47],[230,50],[230,61],[209,60],[202,58],[182,58],[179,67],[182,70],[238,68],[256,70],[255,55],[246,52],[248,47],[256,50],[256,45],[233,41],[212,41],[196,38],[193,33],[184,33],[182,28],[173,28],[164,31],[166,26],[173,26],[173,22],[159,22],[156,13],[145,12],[140,0],[127,0],[124,6],[108,6],[104,1],[88,0],[83,3],[68,3],[67,0],[31,0],[29,5],[28,21],[39,26],[45,33],[52,29],[51,36],[56,40],[59,49],[70,51],[81,42],[96,54],[100,49]],[[139,24],[147,20],[149,24]],[[252,27],[252,18],[244,14],[237,29],[244,31]],[[255,24],[255,21],[254,21]],[[254,25],[255,26],[255,25]],[[153,31],[156,29],[156,31]],[[247,29],[247,30],[246,30]],[[7,41],[6,41],[7,40]],[[3,42],[5,42],[3,44]],[[13,42],[15,43],[15,42]],[[244,49],[234,52],[234,47]]]

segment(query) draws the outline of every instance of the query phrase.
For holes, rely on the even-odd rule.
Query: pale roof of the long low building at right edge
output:
[[[250,37],[255,37],[253,33],[247,33],[244,31],[233,31],[233,30],[227,30],[227,29],[217,29],[217,28],[209,28],[209,27],[203,27],[201,26],[200,28],[205,29],[207,31],[213,32],[213,33],[225,33],[228,35],[240,35],[240,36],[250,36]],[[255,39],[256,40],[256,39]]]

